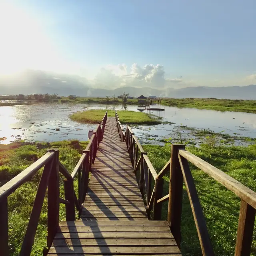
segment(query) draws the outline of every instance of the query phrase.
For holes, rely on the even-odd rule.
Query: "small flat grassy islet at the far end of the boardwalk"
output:
[[[70,116],[76,122],[93,123],[101,122],[106,110],[86,110],[77,112]],[[108,117],[115,116],[114,110],[108,110]],[[128,110],[118,111],[119,120],[122,124],[160,124],[160,120],[150,114]]]

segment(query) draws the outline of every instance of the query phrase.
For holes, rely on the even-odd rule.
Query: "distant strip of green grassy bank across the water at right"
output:
[[[180,108],[199,108],[220,111],[256,113],[256,100],[226,100],[215,98],[165,99],[162,104]]]

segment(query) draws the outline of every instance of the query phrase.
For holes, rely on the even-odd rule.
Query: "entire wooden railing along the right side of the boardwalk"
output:
[[[116,124],[120,135],[120,140],[126,142],[134,172],[140,171],[139,187],[142,197],[146,199],[146,210],[150,219],[153,208],[153,220],[161,219],[162,203],[168,200],[168,224],[178,246],[181,241],[181,214],[182,214],[182,193],[183,180],[188,192],[188,198],[192,208],[198,238],[200,241],[202,254],[204,256],[214,255],[214,250],[210,242],[204,214],[200,206],[196,187],[188,161],[200,170],[214,178],[217,182],[234,192],[240,199],[240,214],[238,220],[238,231],[236,238],[235,256],[250,256],[252,236],[254,230],[254,220],[256,216],[256,192],[247,188],[228,174],[212,166],[201,158],[185,150],[183,144],[172,144],[171,156],[166,165],[157,174],[147,153],[143,150],[140,142],[136,138],[130,125],[126,125],[125,135],[122,136],[122,126],[120,125],[116,112]],[[140,151],[140,157],[139,152]],[[162,197],[163,176],[170,170],[169,194]],[[151,188],[154,179],[154,188]]]

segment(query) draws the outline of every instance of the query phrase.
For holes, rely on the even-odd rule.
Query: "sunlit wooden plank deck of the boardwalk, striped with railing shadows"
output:
[[[149,221],[126,143],[108,118],[78,221],[60,222],[48,255],[181,255],[166,221]]]

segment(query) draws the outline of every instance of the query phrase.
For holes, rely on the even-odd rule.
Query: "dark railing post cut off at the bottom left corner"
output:
[[[0,250],[2,256],[9,255],[8,249],[8,198],[0,202]]]

